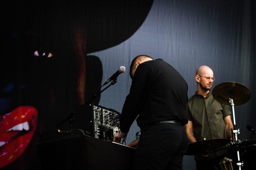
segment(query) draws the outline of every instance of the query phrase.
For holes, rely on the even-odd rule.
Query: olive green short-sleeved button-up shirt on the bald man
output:
[[[196,141],[215,138],[229,139],[223,119],[231,115],[229,106],[216,101],[211,92],[206,98],[195,94],[188,99],[186,115],[187,119],[193,123]]]

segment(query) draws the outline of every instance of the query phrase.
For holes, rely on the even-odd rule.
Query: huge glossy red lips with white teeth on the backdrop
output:
[[[26,150],[34,135],[37,110],[20,106],[0,115],[0,168],[15,161]]]

